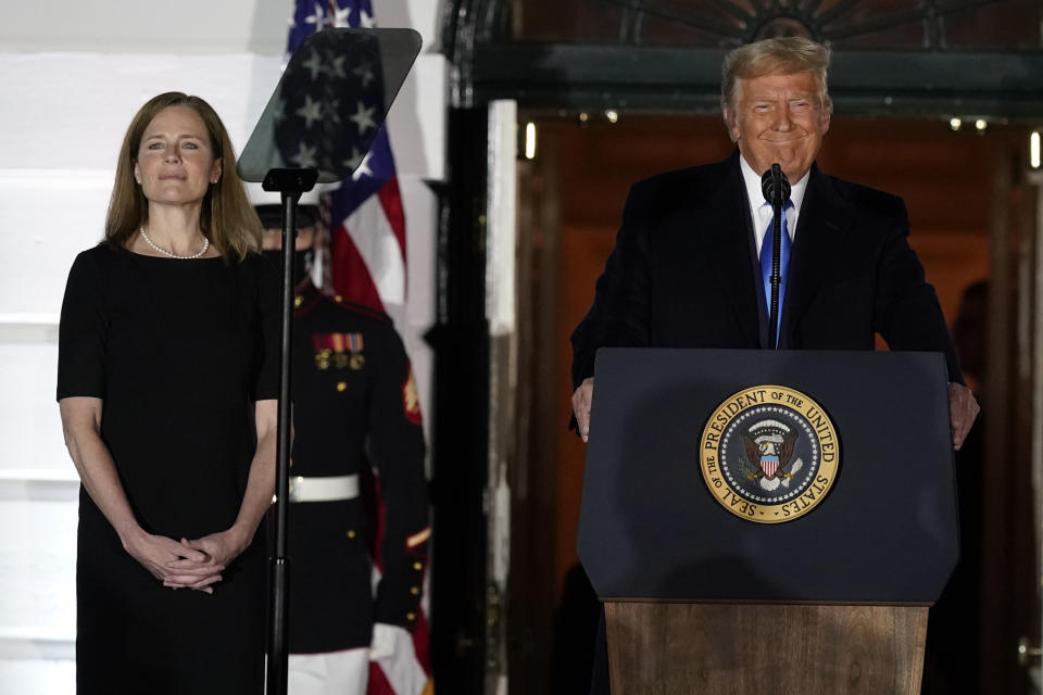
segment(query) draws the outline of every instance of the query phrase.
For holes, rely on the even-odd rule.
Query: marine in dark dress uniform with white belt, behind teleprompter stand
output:
[[[281,226],[279,206],[257,210],[266,229]],[[300,210],[289,692],[362,694],[369,659],[387,656],[397,641],[409,639],[419,612],[430,536],[419,399],[390,318],[326,296],[312,285],[304,256],[314,237],[314,212]],[[279,245],[277,233],[265,233],[266,248]],[[362,496],[369,466],[384,507],[376,529],[367,528]],[[372,532],[382,560],[376,584]]]

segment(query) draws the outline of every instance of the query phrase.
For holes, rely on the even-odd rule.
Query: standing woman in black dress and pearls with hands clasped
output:
[[[62,305],[81,695],[261,693],[278,280],[260,247],[213,109],[150,100]]]

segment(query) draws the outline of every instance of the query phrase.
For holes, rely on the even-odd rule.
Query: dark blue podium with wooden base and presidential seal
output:
[[[614,695],[919,693],[959,553],[942,355],[603,349],[594,383]]]

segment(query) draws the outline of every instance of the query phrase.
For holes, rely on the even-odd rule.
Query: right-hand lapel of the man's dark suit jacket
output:
[[[789,337],[818,293],[835,254],[843,249],[851,224],[846,203],[829,177],[812,165],[787,271],[781,330],[784,343],[780,346],[790,346]]]

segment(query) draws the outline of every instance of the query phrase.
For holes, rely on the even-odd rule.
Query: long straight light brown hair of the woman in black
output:
[[[210,137],[214,157],[221,157],[221,177],[211,184],[203,197],[199,226],[210,242],[226,258],[243,258],[261,249],[261,223],[247,199],[242,180],[236,172],[236,153],[228,131],[213,108],[199,97],[179,91],[168,91],[150,99],[134,119],[123,138],[120,161],[116,163],[116,180],[109,200],[105,217],[105,241],[123,249],[138,228],[149,219],[149,201],[134,177],[141,138],[161,111],[171,106],[186,106],[202,118]]]

